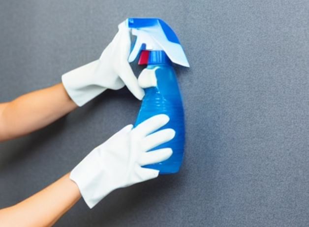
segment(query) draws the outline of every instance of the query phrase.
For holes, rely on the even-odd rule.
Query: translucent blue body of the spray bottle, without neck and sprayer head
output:
[[[185,118],[182,96],[171,64],[151,64],[147,69],[155,69],[157,85],[145,89],[145,97],[134,126],[154,115],[166,114],[170,121],[162,129],[173,128],[176,134],[171,141],[153,149],[171,148],[172,156],[163,162],[144,167],[159,170],[160,174],[174,174],[179,171],[184,156]]]

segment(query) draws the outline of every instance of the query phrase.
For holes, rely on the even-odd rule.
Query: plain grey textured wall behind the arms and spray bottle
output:
[[[162,18],[184,46],[184,165],[93,210],[81,200],[56,226],[308,226],[308,0],[1,0],[0,101],[98,58],[127,17]],[[107,91],[2,143],[0,207],[70,171],[139,106],[126,89]]]

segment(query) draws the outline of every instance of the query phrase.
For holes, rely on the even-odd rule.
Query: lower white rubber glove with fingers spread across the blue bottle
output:
[[[158,176],[158,170],[141,166],[164,161],[172,155],[170,148],[150,151],[174,138],[173,129],[156,131],[168,121],[167,115],[159,114],[133,129],[132,125],[125,126],[72,170],[70,179],[76,182],[90,208],[117,188]]]

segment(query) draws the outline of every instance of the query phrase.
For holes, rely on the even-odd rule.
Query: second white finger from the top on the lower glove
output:
[[[146,136],[141,141],[141,150],[149,151],[175,137],[175,130],[166,128]]]

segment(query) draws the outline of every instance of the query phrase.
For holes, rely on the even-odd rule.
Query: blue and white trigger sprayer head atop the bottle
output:
[[[163,50],[175,64],[189,67],[179,39],[164,21],[158,18],[128,18],[126,24],[136,36],[129,62],[133,62],[141,50]]]

